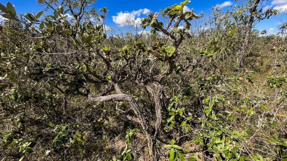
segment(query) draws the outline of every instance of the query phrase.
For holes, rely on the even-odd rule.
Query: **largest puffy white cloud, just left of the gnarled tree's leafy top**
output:
[[[141,18],[139,16],[141,14],[146,15],[150,12],[151,10],[144,8],[131,12],[119,12],[117,13],[117,16],[112,16],[112,18],[113,22],[121,27],[127,25],[139,25],[141,23]]]

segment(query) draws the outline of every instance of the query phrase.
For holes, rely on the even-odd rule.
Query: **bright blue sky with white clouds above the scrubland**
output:
[[[43,6],[38,5],[36,0],[9,0],[13,5],[17,13],[32,12],[35,13],[41,11]],[[183,1],[183,0],[182,0]],[[124,21],[127,19],[125,16],[129,16],[129,19],[135,19],[139,21],[141,18],[146,17],[146,13],[149,11],[158,12],[159,9],[164,9],[167,6],[171,6],[174,3],[180,3],[181,1],[175,0],[97,0],[93,6],[96,9],[101,7],[107,7],[110,11],[107,16],[107,26],[120,27],[126,25]],[[6,4],[7,0],[0,0],[0,3]],[[236,3],[234,0],[191,0],[191,3],[187,4],[188,8],[194,9],[195,13],[200,14],[203,11],[205,14],[210,12],[211,7],[219,5],[222,10],[230,8],[230,5],[234,6]],[[287,0],[269,0],[261,4],[262,8],[283,8],[287,9]],[[187,9],[188,9],[187,8]],[[131,16],[131,17],[130,17]],[[261,31],[266,29],[267,34],[274,34],[277,32],[277,26],[280,21],[287,21],[286,12],[281,11],[279,15],[273,16],[270,19],[265,19],[256,25],[256,28]]]

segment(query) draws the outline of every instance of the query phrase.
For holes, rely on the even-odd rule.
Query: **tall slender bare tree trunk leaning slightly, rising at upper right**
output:
[[[252,30],[252,26],[253,26],[253,22],[254,22],[254,17],[255,17],[254,14],[257,10],[257,6],[258,6],[259,2],[260,2],[260,0],[255,0],[253,3],[253,6],[251,6],[251,9],[250,9],[250,18],[249,18],[249,21],[247,24],[247,31],[246,31],[246,35],[245,35],[245,39],[244,39],[244,44],[243,44],[242,50],[238,56],[238,68],[242,68],[244,65],[244,60],[246,58],[246,52],[248,50],[251,30]]]

